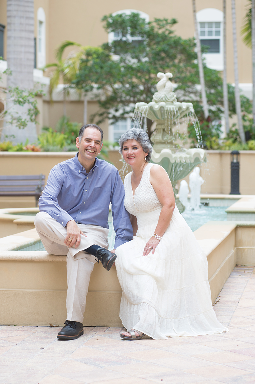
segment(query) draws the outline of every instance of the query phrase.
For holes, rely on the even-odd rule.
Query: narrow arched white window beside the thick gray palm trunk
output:
[[[46,30],[45,12],[42,7],[37,11],[37,68],[43,68],[46,64]]]

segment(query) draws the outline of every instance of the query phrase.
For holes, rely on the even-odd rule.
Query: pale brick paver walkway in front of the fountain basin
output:
[[[0,326],[2,384],[255,383],[255,268],[237,266],[214,309],[229,332],[168,340],[120,339],[121,328]]]

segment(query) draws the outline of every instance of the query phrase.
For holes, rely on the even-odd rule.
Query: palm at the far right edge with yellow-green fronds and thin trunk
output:
[[[249,0],[251,7],[248,9],[245,16],[245,24],[242,28],[241,34],[244,35],[243,41],[252,48],[252,85],[253,85],[253,124],[255,124],[255,0]]]

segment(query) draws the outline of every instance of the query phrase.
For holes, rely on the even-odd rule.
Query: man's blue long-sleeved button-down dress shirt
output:
[[[87,174],[78,154],[52,168],[39,198],[40,211],[47,212],[65,227],[75,220],[79,224],[109,228],[109,205],[116,232],[115,245],[132,240],[133,230],[124,207],[124,186],[118,170],[105,160],[95,159]]]

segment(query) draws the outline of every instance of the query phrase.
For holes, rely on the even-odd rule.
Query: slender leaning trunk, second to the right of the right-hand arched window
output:
[[[238,61],[237,61],[237,38],[236,38],[236,22],[235,22],[235,0],[231,0],[232,8],[232,35],[234,48],[234,73],[235,73],[235,111],[237,114],[239,136],[242,143],[245,143],[244,127],[242,122],[242,111],[239,94],[239,79],[238,79]]]

